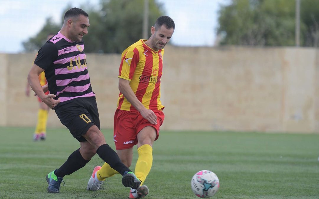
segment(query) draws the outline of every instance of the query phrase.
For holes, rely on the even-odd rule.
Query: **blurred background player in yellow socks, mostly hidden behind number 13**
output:
[[[54,34],[48,34],[47,40],[49,40],[51,37],[53,37]],[[47,79],[45,78],[45,73],[44,71],[39,75],[39,81],[41,86],[46,85]],[[49,94],[49,91],[45,93],[46,95]],[[30,96],[30,85],[27,83],[26,85],[26,96]],[[37,125],[33,134],[33,140],[38,141],[38,140],[45,140],[47,137],[47,121],[48,121],[48,111],[49,107],[47,104],[41,101],[41,99],[37,96],[40,109],[38,111],[38,121]]]

